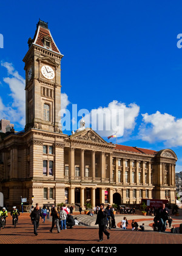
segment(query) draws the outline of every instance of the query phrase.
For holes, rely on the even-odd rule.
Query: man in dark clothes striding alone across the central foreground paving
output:
[[[104,210],[104,204],[100,205],[95,225],[99,226],[99,242],[103,241],[103,233],[110,238],[110,233],[106,230],[107,227],[107,212]]]

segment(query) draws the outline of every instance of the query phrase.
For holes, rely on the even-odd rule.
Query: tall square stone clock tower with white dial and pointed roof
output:
[[[30,128],[61,132],[61,59],[48,28],[39,20],[35,35],[29,38],[25,55],[26,124]]]

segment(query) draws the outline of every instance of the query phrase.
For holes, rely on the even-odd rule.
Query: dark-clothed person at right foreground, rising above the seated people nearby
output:
[[[157,221],[160,223],[159,232],[165,232],[168,216],[169,209],[166,207],[165,204],[162,204],[161,207],[158,208],[156,215]]]

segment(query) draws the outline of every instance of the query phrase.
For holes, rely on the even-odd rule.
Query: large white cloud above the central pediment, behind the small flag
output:
[[[135,119],[140,107],[135,103],[112,101],[107,107],[93,109],[84,119],[86,126],[92,127],[101,137],[109,137],[117,132],[117,137],[128,137],[135,129]]]

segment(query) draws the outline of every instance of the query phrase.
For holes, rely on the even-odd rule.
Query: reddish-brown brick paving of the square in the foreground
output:
[[[138,216],[137,216],[138,217]],[[121,216],[123,218],[123,216]],[[135,218],[136,219],[136,218]],[[150,221],[150,218],[147,218]],[[146,221],[144,217],[137,221]],[[181,220],[178,220],[181,221]],[[130,221],[129,221],[130,222]],[[152,222],[152,221],[151,221]],[[50,233],[51,219],[40,222],[38,236],[33,234],[33,225],[30,222],[29,213],[21,213],[16,229],[12,226],[12,218],[7,218],[7,226],[0,231],[0,244],[181,244],[181,234],[158,233],[147,230],[146,232],[133,232],[130,229],[112,229],[110,239],[104,235],[102,242],[98,241],[98,228],[86,226],[74,226],[73,229],[61,230],[56,228]]]

